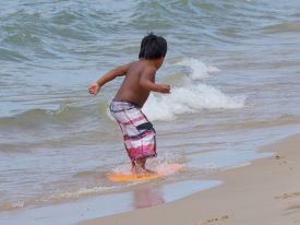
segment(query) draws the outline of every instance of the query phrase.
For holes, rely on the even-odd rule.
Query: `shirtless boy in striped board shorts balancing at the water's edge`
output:
[[[156,156],[156,133],[141,108],[151,91],[170,93],[170,85],[155,83],[155,73],[161,67],[166,54],[166,39],[151,33],[141,43],[137,61],[111,70],[88,87],[91,94],[97,95],[107,82],[117,76],[124,76],[121,87],[110,104],[110,112],[123,133],[133,174],[154,173],[146,169],[145,164],[148,157]]]

